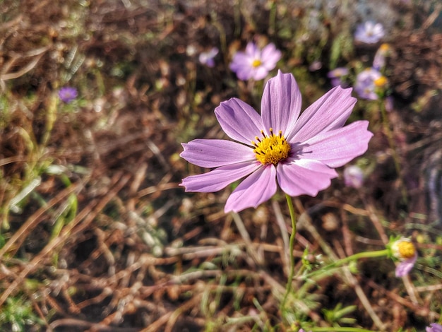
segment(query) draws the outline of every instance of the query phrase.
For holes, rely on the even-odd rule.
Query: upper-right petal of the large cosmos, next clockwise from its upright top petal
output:
[[[321,131],[342,127],[355,103],[351,88],[336,86],[302,112],[287,141],[304,142]]]

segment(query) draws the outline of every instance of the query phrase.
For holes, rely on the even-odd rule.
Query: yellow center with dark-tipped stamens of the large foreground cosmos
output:
[[[273,164],[277,165],[281,160],[285,160],[290,153],[290,145],[282,136],[282,131],[278,135],[273,134],[273,129],[270,128],[270,136],[266,136],[261,130],[263,138],[256,136],[256,142],[252,141],[255,151],[256,160],[263,165]]]

